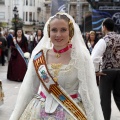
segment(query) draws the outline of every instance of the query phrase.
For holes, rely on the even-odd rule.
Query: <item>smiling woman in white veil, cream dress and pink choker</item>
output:
[[[54,87],[66,96],[55,95],[61,92]],[[44,36],[33,50],[10,120],[80,120],[62,104],[68,98],[87,120],[104,120],[94,66],[79,27],[67,13],[57,13],[47,21]],[[74,109],[69,104],[67,108]]]

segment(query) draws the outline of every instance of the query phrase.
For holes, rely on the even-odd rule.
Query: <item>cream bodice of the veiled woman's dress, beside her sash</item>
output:
[[[47,51],[44,50],[45,59],[46,53]],[[47,68],[51,76],[54,77],[54,69],[51,67],[51,64],[47,64]],[[74,60],[70,60],[70,62],[66,65],[62,64],[62,66],[59,69],[57,82],[69,95],[78,93],[79,80],[77,78],[77,74],[77,69],[75,69],[74,67]],[[40,91],[41,90],[39,90],[39,92]],[[42,91],[44,91],[43,86]]]

